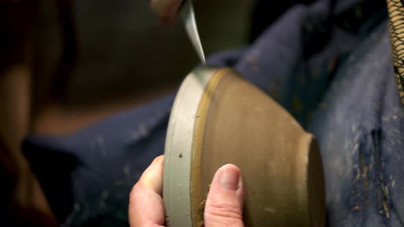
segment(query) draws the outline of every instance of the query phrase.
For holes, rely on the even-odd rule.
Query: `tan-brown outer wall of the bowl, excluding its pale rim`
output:
[[[226,163],[242,171],[246,226],[324,226],[316,140],[275,101],[233,70],[220,69],[205,88],[195,119],[193,226],[203,220],[200,204],[214,172]]]

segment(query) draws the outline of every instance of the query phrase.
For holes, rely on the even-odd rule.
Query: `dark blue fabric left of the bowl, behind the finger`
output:
[[[31,135],[23,151],[64,226],[127,226],[128,195],[164,154],[174,94],[66,137]]]

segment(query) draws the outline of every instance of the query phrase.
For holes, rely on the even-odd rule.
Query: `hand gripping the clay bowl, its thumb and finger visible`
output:
[[[162,226],[164,206],[162,200],[163,156],[154,159],[131,191],[129,222],[131,227]],[[242,223],[242,181],[235,165],[224,165],[212,181],[207,195],[205,226],[244,226]]]

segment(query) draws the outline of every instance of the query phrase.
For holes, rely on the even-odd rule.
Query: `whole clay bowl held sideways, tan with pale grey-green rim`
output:
[[[163,199],[167,226],[202,226],[214,173],[238,165],[246,226],[324,226],[316,139],[230,68],[202,66],[184,80],[168,123]]]

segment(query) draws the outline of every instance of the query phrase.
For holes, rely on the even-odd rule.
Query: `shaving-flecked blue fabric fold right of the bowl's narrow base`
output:
[[[386,23],[340,68],[309,126],[325,166],[330,226],[402,226],[404,112]]]

